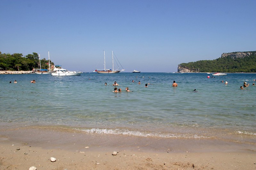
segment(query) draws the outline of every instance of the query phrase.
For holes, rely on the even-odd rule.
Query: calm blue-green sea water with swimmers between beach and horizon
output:
[[[0,123],[255,143],[256,86],[252,83],[256,74],[211,77],[206,73],[124,72],[0,75]],[[35,84],[30,83],[33,79]],[[171,86],[173,80],[178,87]],[[114,81],[122,92],[112,92]],[[240,90],[244,81],[250,85]]]

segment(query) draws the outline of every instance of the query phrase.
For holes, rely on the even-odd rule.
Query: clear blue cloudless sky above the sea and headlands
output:
[[[68,70],[175,72],[256,50],[255,0],[1,0],[0,51],[40,53]]]

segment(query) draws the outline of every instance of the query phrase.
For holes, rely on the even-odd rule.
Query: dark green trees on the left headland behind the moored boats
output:
[[[41,69],[49,69],[49,61],[45,58],[41,59]],[[51,62],[51,65],[54,65]],[[10,71],[30,71],[33,69],[39,69],[39,56],[37,53],[32,53],[23,56],[20,53],[14,54],[2,54],[0,51],[0,67],[4,70]]]

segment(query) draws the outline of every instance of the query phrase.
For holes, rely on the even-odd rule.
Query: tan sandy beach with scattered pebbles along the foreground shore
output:
[[[65,128],[9,127],[0,132],[0,169],[256,169],[254,144],[87,134]]]

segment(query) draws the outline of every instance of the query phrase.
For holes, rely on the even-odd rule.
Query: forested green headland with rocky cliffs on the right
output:
[[[256,72],[256,51],[223,53],[215,60],[181,63],[178,72]]]

